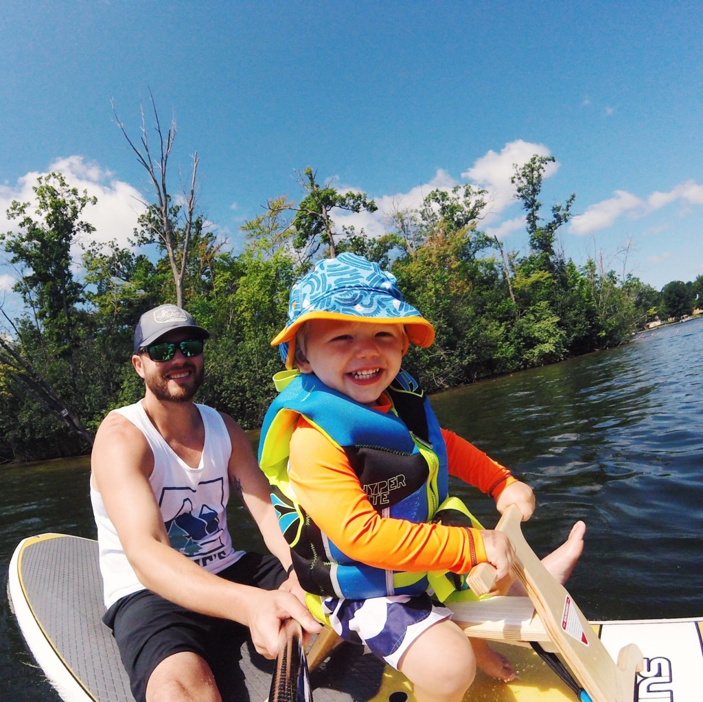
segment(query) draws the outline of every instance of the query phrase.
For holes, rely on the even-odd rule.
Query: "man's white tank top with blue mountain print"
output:
[[[227,529],[227,464],[232,445],[219,412],[204,404],[195,407],[205,425],[205,443],[198,468],[188,466],[167,444],[141,402],[113,411],[129,419],[149,442],[154,454],[149,483],[172,547],[211,573],[219,573],[245,553],[233,549]],[[105,606],[110,607],[120,597],[145,587],[129,565],[115,526],[105,511],[103,498],[92,485],[91,502],[98,527]]]

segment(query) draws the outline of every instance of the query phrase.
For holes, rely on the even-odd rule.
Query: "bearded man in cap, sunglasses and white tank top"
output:
[[[175,305],[143,314],[131,361],[144,397],[110,412],[93,445],[104,620],[137,702],[219,701],[212,660],[231,636],[230,622],[249,627],[267,658],[276,656],[283,620],[320,630],[299,601],[304,594],[249,440],[231,417],[193,402],[207,338]],[[234,549],[230,487],[273,556]]]

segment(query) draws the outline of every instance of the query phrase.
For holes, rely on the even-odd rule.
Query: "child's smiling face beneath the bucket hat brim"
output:
[[[300,371],[356,402],[375,404],[400,370],[403,327],[336,319],[311,319],[308,325]]]

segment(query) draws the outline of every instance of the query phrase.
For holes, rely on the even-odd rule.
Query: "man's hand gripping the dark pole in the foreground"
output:
[[[257,589],[250,598],[248,609],[247,625],[252,642],[264,658],[273,659],[278,655],[278,636],[286,619],[297,620],[303,634],[317,634],[322,630],[322,625],[300,604],[297,597],[283,589]]]

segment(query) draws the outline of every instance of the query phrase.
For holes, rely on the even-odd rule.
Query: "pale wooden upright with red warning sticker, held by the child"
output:
[[[522,535],[521,521],[520,509],[510,505],[496,530],[505,533],[515,547],[512,573],[534,604],[551,642],[586,691],[586,697],[581,698],[593,702],[632,702],[635,673],[643,665],[640,649],[634,644],[624,646],[617,665],[614,663],[572,596],[529,547]],[[472,569],[468,582],[475,594],[482,595],[490,592],[495,578],[496,569],[489,563],[480,563]]]

